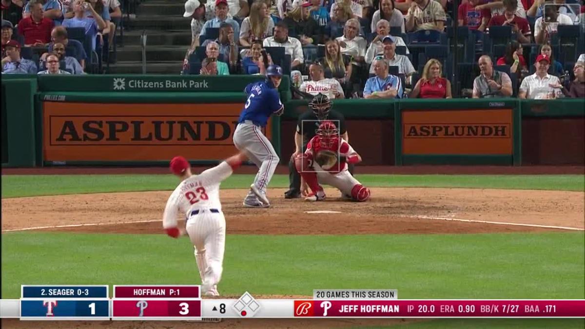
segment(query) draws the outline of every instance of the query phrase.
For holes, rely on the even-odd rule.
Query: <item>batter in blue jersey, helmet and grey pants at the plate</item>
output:
[[[266,69],[266,81],[251,83],[245,89],[248,99],[233,133],[233,143],[259,170],[244,199],[244,207],[270,207],[266,187],[280,159],[261,129],[266,126],[270,115],[274,113],[280,116],[284,112],[283,103],[278,96],[278,85],[282,77],[283,69],[270,65]]]

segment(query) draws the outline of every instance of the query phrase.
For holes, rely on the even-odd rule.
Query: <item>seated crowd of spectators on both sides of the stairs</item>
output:
[[[109,53],[122,16],[118,0],[1,1],[3,74],[82,74],[93,54]],[[297,97],[585,97],[583,0],[462,0],[458,8],[451,0],[187,0],[184,9],[192,37],[181,74],[258,74],[266,54],[291,75]],[[47,52],[31,57],[35,47]]]

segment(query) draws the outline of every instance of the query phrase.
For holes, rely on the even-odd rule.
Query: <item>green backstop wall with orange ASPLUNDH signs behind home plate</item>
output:
[[[5,78],[7,77],[7,78]],[[214,163],[259,76],[3,76],[2,166]],[[307,101],[264,133],[288,161]],[[336,100],[364,165],[584,165],[585,100]]]

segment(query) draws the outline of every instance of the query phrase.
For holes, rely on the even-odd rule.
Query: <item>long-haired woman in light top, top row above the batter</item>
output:
[[[249,47],[252,40],[263,40],[267,36],[272,35],[274,29],[274,20],[270,18],[270,11],[266,5],[266,1],[256,0],[250,9],[250,16],[242,21],[240,27],[240,44],[244,47]]]

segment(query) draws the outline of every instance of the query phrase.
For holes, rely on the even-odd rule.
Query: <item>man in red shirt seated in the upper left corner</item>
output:
[[[43,17],[43,4],[31,1],[30,16],[18,23],[18,33],[25,37],[25,46],[44,47],[51,41],[51,30],[55,23]]]

